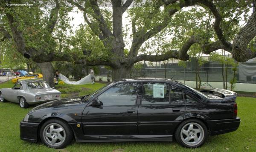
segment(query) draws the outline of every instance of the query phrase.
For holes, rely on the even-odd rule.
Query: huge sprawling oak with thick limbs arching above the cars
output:
[[[24,1],[15,2],[25,3]],[[4,14],[1,14],[0,17],[7,22],[1,22],[3,24],[0,26],[0,32],[3,37],[13,39],[18,52],[38,63],[44,73],[44,78],[48,78],[48,82],[52,81],[50,79],[53,77],[53,74],[49,73],[49,67],[52,67],[51,61],[77,60],[76,56],[70,55],[68,46],[64,45],[63,47],[63,45],[56,44],[63,42],[56,31],[61,27],[61,29],[67,28],[67,25],[63,26],[62,24],[69,21],[64,19],[70,5],[83,13],[86,25],[90,27],[90,31],[96,39],[102,43],[102,52],[108,55],[104,58],[91,58],[89,53],[89,56],[88,54],[82,56],[78,62],[90,66],[108,65],[113,69],[114,79],[129,77],[134,63],[143,60],[151,62],[169,58],[188,60],[189,48],[194,44],[198,44],[202,48],[202,52],[206,54],[224,49],[232,53],[234,59],[239,62],[256,57],[256,53],[253,51],[253,39],[256,36],[255,0],[237,2],[234,0],[67,0],[67,2],[61,1],[61,3],[55,0],[52,4],[54,7],[49,10],[48,16],[43,13],[44,9],[47,10],[43,7],[43,5],[47,5],[46,1],[40,1],[36,3],[37,7],[26,9],[6,6],[6,3],[12,3],[12,1],[7,0],[1,4]],[[112,7],[111,11],[100,7],[106,3]],[[204,8],[209,12],[206,17],[209,15],[213,17],[214,21],[209,23],[210,28],[214,31],[212,35],[201,34],[206,31],[196,30],[186,35],[187,38],[184,39],[182,47],[172,47],[175,50],[157,54],[140,53],[145,42],[153,39],[162,31],[175,28],[178,22],[176,15],[183,8],[190,6]],[[248,11],[250,8],[253,10],[248,20],[245,20],[246,24],[242,28],[237,28],[243,11]],[[60,11],[62,12],[61,17]],[[130,15],[132,27],[132,40],[128,54],[125,54],[125,34],[122,23],[125,11],[128,11]],[[176,20],[173,20],[175,17]],[[187,19],[185,16],[184,18]],[[58,24],[62,26],[56,27]],[[236,29],[239,31],[236,32]],[[64,36],[64,34],[61,35]],[[210,40],[210,37],[214,41]]]

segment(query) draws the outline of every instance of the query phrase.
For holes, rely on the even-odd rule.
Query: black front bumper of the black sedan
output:
[[[38,126],[39,123],[20,122],[20,139],[29,142],[38,141]]]

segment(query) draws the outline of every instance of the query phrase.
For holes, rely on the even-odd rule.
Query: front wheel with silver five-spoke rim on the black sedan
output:
[[[42,125],[40,138],[46,146],[62,149],[73,140],[73,131],[65,121],[50,119]]]

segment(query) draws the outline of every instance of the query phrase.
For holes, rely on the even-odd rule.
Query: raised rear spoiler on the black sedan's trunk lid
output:
[[[204,89],[201,92],[210,98],[223,99],[223,102],[235,102],[237,96],[237,93],[224,89]]]

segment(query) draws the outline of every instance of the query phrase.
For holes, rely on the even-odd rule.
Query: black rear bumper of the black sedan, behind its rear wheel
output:
[[[210,127],[210,135],[219,135],[236,131],[239,128],[240,121],[240,118],[237,117],[224,120],[209,120],[206,122]]]

